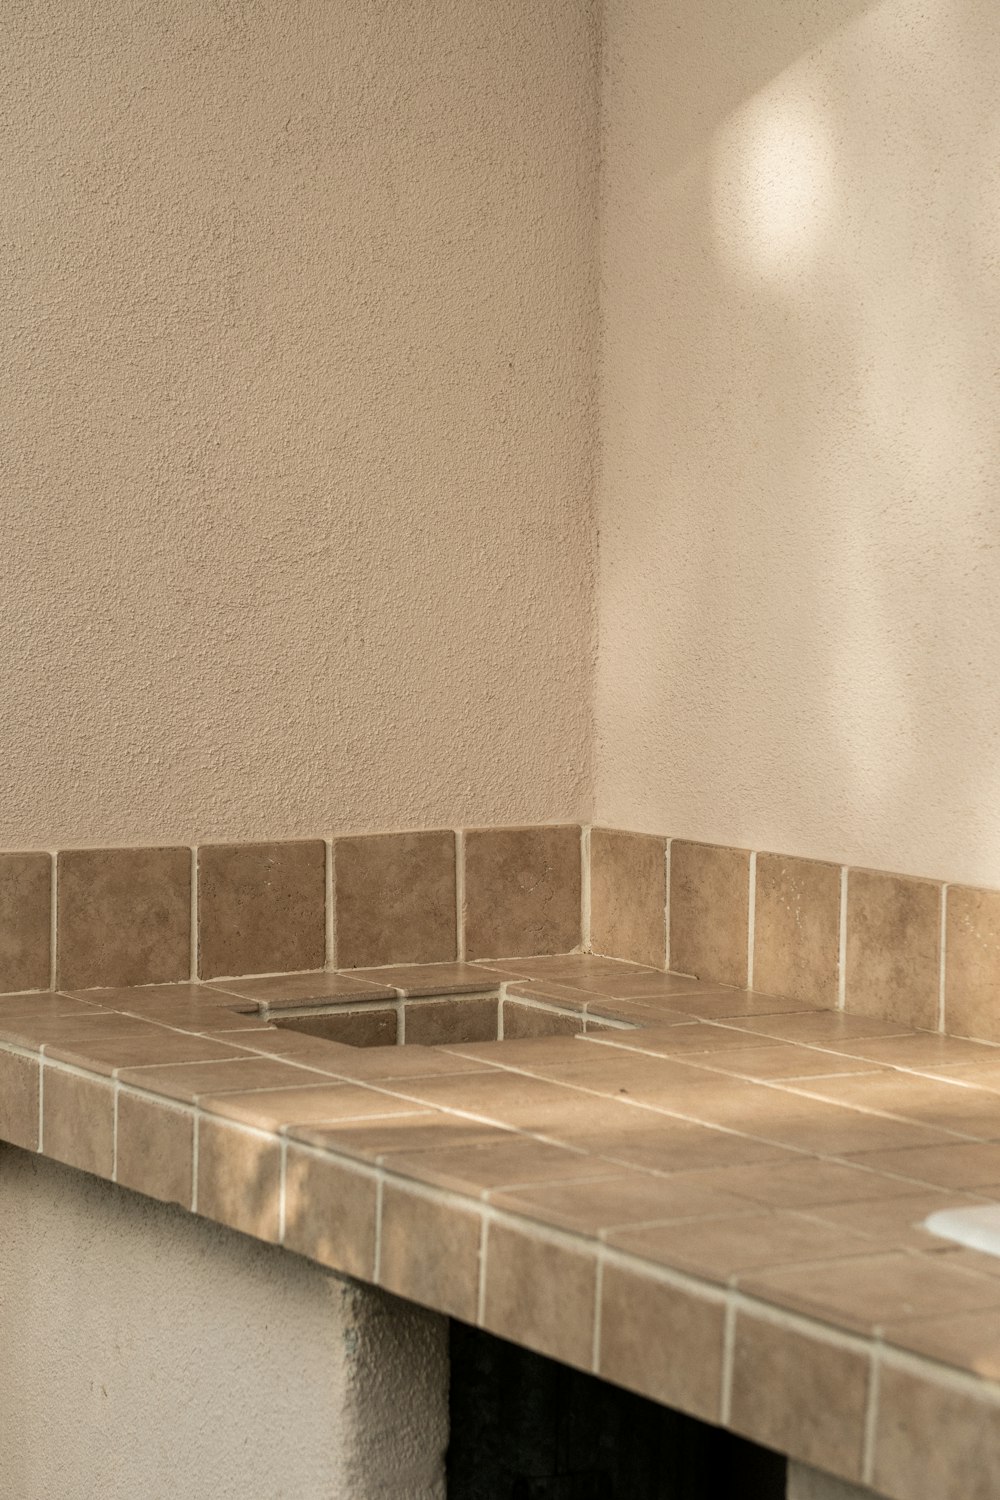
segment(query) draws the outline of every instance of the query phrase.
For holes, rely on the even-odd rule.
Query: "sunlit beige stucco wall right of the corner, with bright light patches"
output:
[[[1000,885],[1000,10],[604,48],[597,819]]]

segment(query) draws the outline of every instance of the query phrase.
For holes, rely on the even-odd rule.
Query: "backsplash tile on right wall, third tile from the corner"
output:
[[[837,1005],[840,867],[757,855],[754,988]]]

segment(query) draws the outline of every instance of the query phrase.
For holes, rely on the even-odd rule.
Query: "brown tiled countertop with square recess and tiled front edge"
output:
[[[588,1029],[285,1029],[462,993]],[[0,1137],[894,1500],[1000,1492],[1000,1258],[919,1227],[1000,1202],[997,1047],[588,956],[15,994]]]

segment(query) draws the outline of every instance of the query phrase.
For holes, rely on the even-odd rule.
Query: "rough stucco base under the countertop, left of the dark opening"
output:
[[[0,1146],[4,1500],[444,1500],[447,1320]]]

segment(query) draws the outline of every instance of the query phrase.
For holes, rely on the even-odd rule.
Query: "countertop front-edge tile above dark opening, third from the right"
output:
[[[604,1266],[598,1374],[663,1406],[718,1422],[724,1302],[639,1269]]]

